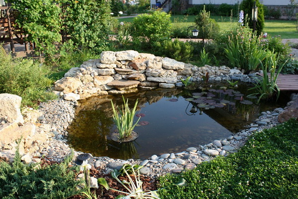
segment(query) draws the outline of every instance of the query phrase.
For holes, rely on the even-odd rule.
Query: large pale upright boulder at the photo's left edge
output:
[[[12,94],[0,94],[0,118],[7,117],[7,121],[24,122],[20,111],[22,98]]]

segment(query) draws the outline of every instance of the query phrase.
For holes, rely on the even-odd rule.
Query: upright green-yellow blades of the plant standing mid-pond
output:
[[[127,138],[131,135],[132,131],[134,130],[135,126],[141,119],[139,117],[138,121],[134,123],[134,117],[137,111],[138,100],[135,103],[134,108],[131,110],[128,106],[128,99],[125,101],[124,97],[122,96],[124,105],[122,108],[119,108],[119,114],[117,113],[114,103],[111,100],[112,108],[113,108],[113,119],[119,131],[119,139]]]

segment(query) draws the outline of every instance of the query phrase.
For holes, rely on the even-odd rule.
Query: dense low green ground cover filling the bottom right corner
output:
[[[195,170],[161,177],[166,199],[293,199],[298,197],[298,121],[256,132],[237,153]],[[171,185],[183,177],[186,187]]]

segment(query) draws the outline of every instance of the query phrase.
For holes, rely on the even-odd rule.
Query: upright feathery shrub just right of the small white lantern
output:
[[[195,23],[197,24],[197,28],[199,30],[199,38],[203,39],[213,39],[219,31],[219,25],[216,23],[214,19],[210,18],[210,12],[205,10],[205,6],[203,10],[195,18]]]

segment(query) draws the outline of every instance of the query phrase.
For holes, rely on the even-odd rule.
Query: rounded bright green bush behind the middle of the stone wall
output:
[[[151,14],[141,14],[133,20],[132,37],[134,42],[151,46],[154,42],[168,40],[171,34],[170,14],[159,9]]]

